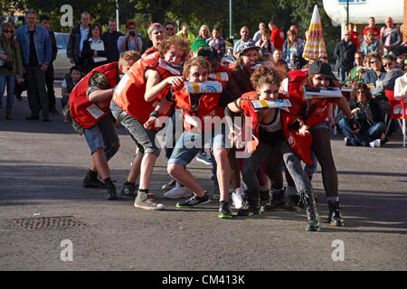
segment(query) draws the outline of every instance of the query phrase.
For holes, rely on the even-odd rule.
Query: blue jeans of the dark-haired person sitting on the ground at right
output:
[[[379,121],[378,123],[370,126],[366,130],[361,130],[357,134],[352,134],[353,128],[348,124],[345,118],[339,120],[338,123],[342,133],[349,140],[350,145],[354,146],[369,146],[369,143],[374,141],[377,138],[380,138],[385,131],[385,126],[383,122]]]

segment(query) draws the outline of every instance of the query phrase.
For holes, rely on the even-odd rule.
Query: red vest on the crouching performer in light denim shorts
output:
[[[173,93],[176,107],[183,110],[184,128],[194,133],[203,133],[208,129],[211,130],[221,123],[214,122],[211,126],[208,126],[207,117],[211,117],[209,121],[214,120],[213,117],[219,117],[219,121],[224,117],[224,108],[219,107],[220,93],[206,93],[203,94],[199,100],[197,116],[194,116],[194,112],[191,107],[191,98],[189,93],[186,92],[185,87],[183,89],[175,90]],[[206,118],[206,119],[205,119]],[[206,126],[205,126],[206,123]],[[198,126],[196,126],[198,125]]]

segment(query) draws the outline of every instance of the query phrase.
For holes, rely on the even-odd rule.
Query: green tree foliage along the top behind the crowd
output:
[[[0,9],[2,14],[12,14],[15,8],[50,14],[52,29],[67,32],[70,28],[64,28],[60,23],[60,9],[66,4],[73,8],[74,23],[79,23],[83,11],[90,13],[92,22],[104,25],[109,18],[116,17],[116,0],[0,0]],[[247,25],[252,35],[258,30],[260,22],[273,20],[284,33],[291,24],[296,24],[299,36],[303,37],[314,5],[319,8],[327,53],[331,57],[336,42],[340,40],[340,29],[332,26],[320,0],[232,0],[232,35],[235,39],[240,38],[242,25]],[[210,28],[216,26],[221,28],[224,37],[229,37],[229,0],[118,0],[118,7],[120,23],[123,25],[130,19],[136,20],[138,31],[145,33],[145,37],[149,23],[166,21],[188,23],[195,34],[202,24]]]

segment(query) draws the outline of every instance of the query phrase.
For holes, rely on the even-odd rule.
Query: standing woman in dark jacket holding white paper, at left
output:
[[[82,62],[85,73],[94,68],[108,63],[108,47],[101,39],[101,26],[99,23],[90,25],[91,37],[83,42]]]

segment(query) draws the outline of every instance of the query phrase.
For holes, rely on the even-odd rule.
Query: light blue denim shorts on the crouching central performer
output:
[[[224,129],[222,129],[222,132],[216,132],[216,134],[214,134],[213,130],[205,134],[203,139],[202,134],[185,131],[176,141],[175,148],[168,163],[178,163],[185,166],[191,163],[195,155],[200,153],[204,148],[204,144],[206,143],[204,140],[209,141],[211,150],[213,150],[214,147],[226,147]]]

